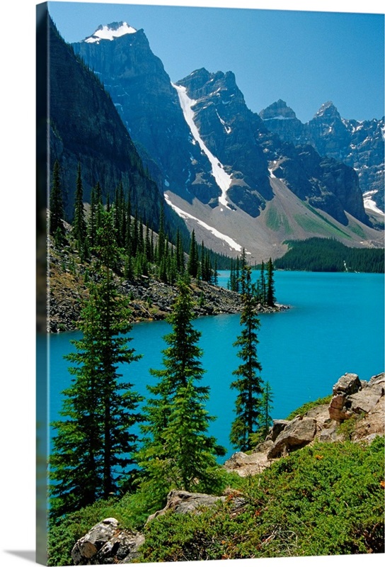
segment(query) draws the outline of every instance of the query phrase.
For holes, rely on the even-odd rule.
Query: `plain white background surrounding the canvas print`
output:
[[[384,13],[379,0],[115,2],[119,3]],[[1,3],[0,11],[2,567],[27,566],[35,561],[36,4],[32,0],[6,0]],[[365,566],[377,566],[379,561],[382,561],[381,556],[260,559],[258,566],[358,567],[362,562]],[[240,567],[256,565],[257,560],[231,563]]]

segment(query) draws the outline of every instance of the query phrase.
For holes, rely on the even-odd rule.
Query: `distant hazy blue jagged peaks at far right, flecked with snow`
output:
[[[353,167],[360,179],[365,201],[374,200],[384,211],[384,118],[346,120],[328,101],[314,118],[301,123],[292,108],[282,100],[272,103],[259,116],[268,129],[282,140],[294,145],[309,144],[320,155],[333,157]]]

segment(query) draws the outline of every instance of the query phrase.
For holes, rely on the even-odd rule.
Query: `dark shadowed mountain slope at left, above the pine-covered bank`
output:
[[[49,150],[50,164],[57,159],[62,167],[62,186],[71,218],[76,188],[76,172],[81,163],[84,201],[99,181],[104,198],[113,198],[122,181],[130,189],[132,210],[151,220],[158,228],[163,193],[144,171],[142,159],[127,128],[96,74],[79,60],[64,42],[49,18],[50,52]],[[103,30],[99,30],[103,33]],[[180,219],[166,208],[166,225],[180,225]]]

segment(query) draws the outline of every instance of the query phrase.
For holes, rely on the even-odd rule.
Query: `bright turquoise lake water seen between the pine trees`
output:
[[[253,272],[257,278],[258,272]],[[229,272],[220,272],[226,286]],[[274,396],[272,417],[281,419],[303,403],[331,393],[345,372],[369,380],[384,370],[384,275],[275,272],[277,301],[290,305],[282,313],[260,315],[258,359],[262,378]],[[229,384],[240,359],[232,346],[241,331],[239,315],[217,315],[195,320],[202,332],[202,365],[207,370],[202,384],[210,386],[208,410],[216,415],[210,433],[230,456],[229,431],[234,420],[236,392]],[[122,369],[125,381],[147,395],[146,384],[156,381],[149,369],[160,369],[164,322],[133,326],[130,346],[143,358]],[[71,376],[63,355],[74,350],[70,340],[80,332],[50,336],[50,421],[59,417],[61,391]],[[224,460],[224,459],[221,459]]]

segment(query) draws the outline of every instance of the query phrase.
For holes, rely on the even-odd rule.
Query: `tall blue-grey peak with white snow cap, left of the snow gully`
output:
[[[132,30],[127,23],[112,23],[72,45],[110,92],[159,187],[214,206],[220,191],[209,160],[193,143],[176,89],[144,31]],[[105,38],[108,33],[114,40]]]

